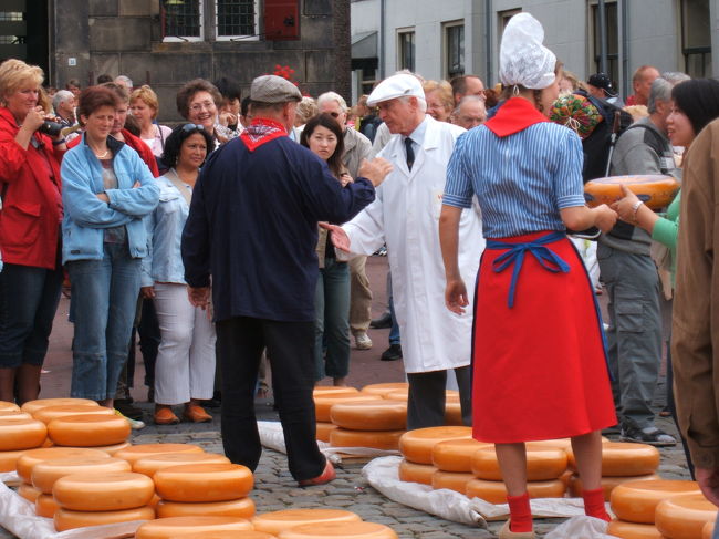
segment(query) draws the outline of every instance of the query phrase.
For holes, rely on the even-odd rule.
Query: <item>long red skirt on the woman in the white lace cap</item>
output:
[[[499,239],[531,242],[548,231]],[[579,436],[615,425],[603,329],[579,252],[566,238],[548,243],[569,272],[543,268],[530,252],[508,298],[513,267],[479,269],[472,336],[473,437],[518,443]]]

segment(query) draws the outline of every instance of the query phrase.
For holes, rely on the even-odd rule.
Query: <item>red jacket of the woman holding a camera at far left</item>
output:
[[[60,162],[64,151],[35,133],[23,149],[12,113],[0,107],[0,250],[7,263],[54,269],[58,261],[62,196]],[[49,168],[50,167],[50,170]],[[49,172],[51,174],[49,174]]]

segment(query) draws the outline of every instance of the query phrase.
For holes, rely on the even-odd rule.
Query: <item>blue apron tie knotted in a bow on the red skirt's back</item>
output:
[[[487,240],[487,249],[503,250],[507,252],[497,257],[492,262],[492,270],[494,273],[501,273],[510,266],[512,268],[512,280],[509,284],[509,298],[507,304],[511,309],[514,307],[514,293],[517,291],[517,281],[519,280],[519,272],[522,270],[524,263],[524,255],[529,251],[536,261],[548,271],[552,273],[569,273],[570,265],[562,260],[552,249],[546,247],[548,243],[554,243],[563,238],[566,238],[565,232],[550,232],[529,243],[504,243],[493,239]]]

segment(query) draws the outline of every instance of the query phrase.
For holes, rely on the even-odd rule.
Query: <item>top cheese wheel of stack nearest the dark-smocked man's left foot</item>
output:
[[[252,490],[252,471],[240,464],[185,464],[155,474],[157,495],[170,501],[228,501]]]

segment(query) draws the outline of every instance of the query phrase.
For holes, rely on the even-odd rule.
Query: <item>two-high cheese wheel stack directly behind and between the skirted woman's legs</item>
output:
[[[566,491],[560,477],[566,471],[566,453],[544,444],[527,444],[527,491],[530,498],[562,498]],[[478,449],[471,459],[477,476],[467,484],[468,498],[481,498],[491,504],[507,502],[507,488],[497,460],[494,446]]]

